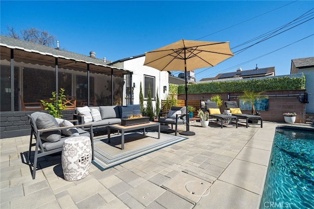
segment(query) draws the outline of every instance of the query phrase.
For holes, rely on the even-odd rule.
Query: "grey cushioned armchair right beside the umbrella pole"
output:
[[[167,114],[165,118],[161,117],[162,114]],[[172,106],[169,112],[159,112],[158,122],[164,124],[176,125],[175,135],[178,133],[178,124],[186,124],[186,107],[185,106]]]

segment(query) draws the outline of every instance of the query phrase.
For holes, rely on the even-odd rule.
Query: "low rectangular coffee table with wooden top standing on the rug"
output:
[[[137,124],[132,126],[122,126],[120,124],[114,124],[108,126],[108,143],[110,143],[110,129],[114,129],[117,131],[121,131],[121,149],[124,149],[124,133],[126,131],[135,131],[143,129],[143,135],[145,135],[145,129],[149,127],[158,127],[158,139],[160,139],[160,123],[157,122],[149,122],[149,123],[143,123],[143,124]]]

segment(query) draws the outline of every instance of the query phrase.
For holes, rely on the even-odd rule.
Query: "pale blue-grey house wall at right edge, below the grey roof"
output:
[[[305,88],[309,95],[309,103],[305,105],[306,113],[314,113],[314,68],[299,69],[305,76]]]

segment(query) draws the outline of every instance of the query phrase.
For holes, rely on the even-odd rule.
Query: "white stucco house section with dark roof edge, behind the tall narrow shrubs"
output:
[[[144,100],[147,100],[148,87],[151,86],[151,95],[154,108],[156,107],[156,95],[158,90],[159,102],[164,100],[169,91],[169,82],[168,76],[169,73],[167,71],[159,71],[155,68],[144,66],[145,54],[132,56],[125,59],[120,59],[110,63],[110,66],[115,66],[118,68],[123,68],[128,71],[132,71],[131,79],[127,79],[131,81],[131,87],[133,89],[132,100],[133,104],[139,104],[139,92],[140,92],[140,83],[142,83],[142,91],[144,94]],[[128,83],[127,83],[127,86]],[[126,88],[127,92],[130,92],[128,87]],[[124,98],[126,104],[129,98]]]

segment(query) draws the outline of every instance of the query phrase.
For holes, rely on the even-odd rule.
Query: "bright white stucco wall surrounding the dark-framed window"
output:
[[[142,82],[142,91],[144,94],[144,75],[155,77],[155,98],[158,89],[159,102],[164,100],[168,95],[169,84],[168,84],[168,72],[161,72],[155,68],[144,66],[145,56],[130,59],[124,61],[123,68],[133,72],[132,83],[135,83],[134,88],[134,100],[133,104],[139,104],[139,92],[140,92],[140,82]],[[167,91],[163,93],[163,86],[167,86]],[[156,101],[153,100],[153,106],[155,108]]]

